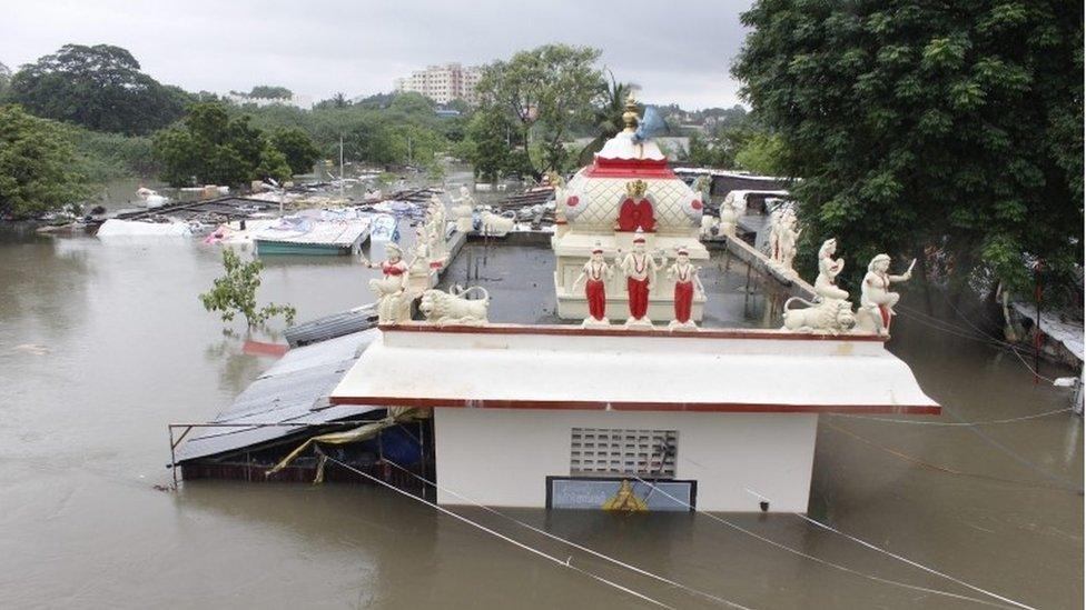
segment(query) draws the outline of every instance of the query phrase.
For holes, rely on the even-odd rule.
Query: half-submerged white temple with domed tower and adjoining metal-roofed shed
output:
[[[585,317],[589,289],[574,274],[593,251],[613,257],[651,238],[708,259],[698,196],[631,123],[557,194],[553,287],[515,289],[553,300],[551,319],[491,323],[488,301],[452,294],[431,321],[309,332],[319,339],[288,351],[213,421],[224,428],[187,439],[175,459],[184,477],[263,480],[278,463],[273,478],[309,480],[334,454],[444,504],[806,512],[819,414],[940,412],[885,333],[835,326],[851,316],[846,301],[848,313],[829,318],[790,310],[799,331],[677,327],[680,273],[640,323],[561,323]],[[653,226],[621,224],[628,200]],[[610,287],[604,318],[629,316],[621,290]],[[704,303],[704,288],[692,290],[687,307]]]

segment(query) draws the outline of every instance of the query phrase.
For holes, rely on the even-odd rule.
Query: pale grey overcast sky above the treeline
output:
[[[485,63],[546,42],[603,50],[650,103],[739,103],[728,73],[747,0],[3,0],[0,62],[12,70],[62,44],[131,51],[145,72],[190,91],[282,84],[325,99],[393,89],[430,63]]]

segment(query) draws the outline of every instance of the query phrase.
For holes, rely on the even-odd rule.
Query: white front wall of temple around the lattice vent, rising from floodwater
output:
[[[437,483],[488,506],[543,508],[545,478],[570,474],[570,429],[677,430],[677,479],[698,508],[806,512],[818,416],[434,409]],[[443,504],[467,503],[438,491]]]

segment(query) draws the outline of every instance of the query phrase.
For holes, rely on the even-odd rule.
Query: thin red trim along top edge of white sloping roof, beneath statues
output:
[[[667,327],[649,329],[581,328],[576,324],[486,324],[482,327],[435,326],[419,322],[382,324],[384,332],[441,332],[446,334],[553,334],[575,337],[654,337],[672,339],[772,339],[777,341],[877,341],[887,337],[877,334],[827,334],[817,332],[789,332],[769,329],[698,329],[668,330]]]

